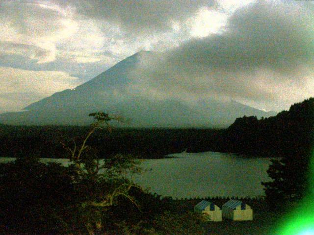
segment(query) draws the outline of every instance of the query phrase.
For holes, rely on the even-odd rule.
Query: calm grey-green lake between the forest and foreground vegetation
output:
[[[255,197],[264,195],[261,181],[269,181],[270,158],[247,158],[239,154],[177,153],[173,158],[144,160],[146,169],[133,180],[162,196],[194,198],[208,196]],[[0,162],[13,158],[0,158]],[[52,159],[42,159],[49,162]],[[64,159],[54,162],[67,164]]]

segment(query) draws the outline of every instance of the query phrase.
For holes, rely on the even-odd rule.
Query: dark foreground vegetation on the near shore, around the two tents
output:
[[[100,205],[121,186],[109,174],[102,183],[88,173],[74,180],[75,170],[32,158],[1,164],[0,172],[0,234],[5,235],[268,235],[291,210],[274,211],[262,198],[246,198],[241,200],[252,206],[253,221],[206,222],[193,213],[201,199],[161,198],[137,187]],[[207,200],[221,207],[228,199]]]

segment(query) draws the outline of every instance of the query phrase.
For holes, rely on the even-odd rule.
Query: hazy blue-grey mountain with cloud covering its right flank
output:
[[[25,112],[0,115],[5,124],[27,125],[85,125],[92,121],[88,114],[104,111],[130,119],[132,127],[227,127],[235,118],[269,117],[275,113],[237,103],[235,101],[202,100],[193,104],[163,98],[153,99],[135,92],[128,86],[129,75],[140,59],[154,53],[138,52],[90,81],[72,90],[55,93],[32,103]]]

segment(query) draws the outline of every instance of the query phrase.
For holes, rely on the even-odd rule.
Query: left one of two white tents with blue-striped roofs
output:
[[[222,221],[220,208],[212,202],[203,200],[194,207],[194,211],[202,213],[209,221]]]

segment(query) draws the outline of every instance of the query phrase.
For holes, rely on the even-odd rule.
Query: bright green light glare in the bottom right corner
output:
[[[273,235],[314,235],[314,151],[309,172],[310,188],[299,207],[283,218]],[[280,231],[280,232],[278,232]]]

